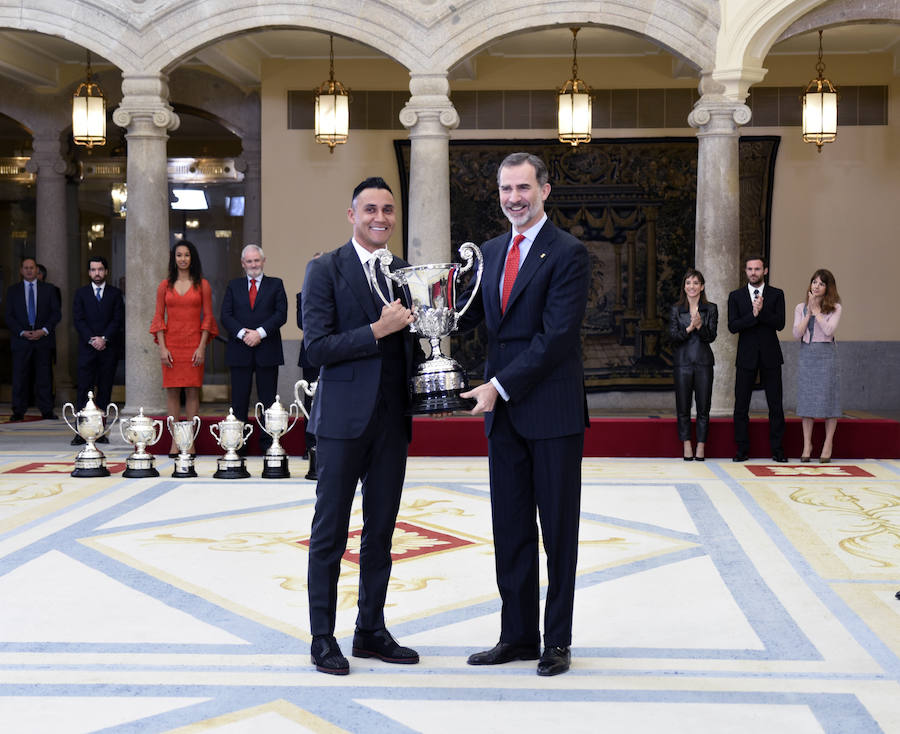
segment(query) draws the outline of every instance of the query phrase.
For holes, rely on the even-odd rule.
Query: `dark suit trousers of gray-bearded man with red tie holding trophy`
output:
[[[583,432],[537,440],[522,437],[506,404],[497,400],[488,456],[497,587],[503,602],[500,642],[540,642],[536,507],[547,554],[544,644],[572,643],[583,449]]]

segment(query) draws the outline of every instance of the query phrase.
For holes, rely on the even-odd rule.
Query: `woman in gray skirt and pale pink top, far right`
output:
[[[825,419],[825,443],[819,463],[831,461],[834,429],[841,415],[841,386],[834,332],[841,320],[841,297],[834,276],[817,270],[809,281],[806,302],[794,309],[794,338],[800,340],[797,369],[797,415],[803,419],[803,453],[812,455],[812,428],[816,418]]]

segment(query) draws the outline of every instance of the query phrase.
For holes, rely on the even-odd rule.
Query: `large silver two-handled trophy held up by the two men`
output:
[[[466,312],[481,285],[484,258],[481,250],[471,242],[459,248],[460,263],[436,265],[411,265],[393,272],[389,265],[394,256],[389,250],[381,249],[373,253],[380,262],[381,272],[403,290],[416,320],[410,324],[410,331],[431,342],[431,356],[416,369],[410,378],[411,407],[413,415],[446,413],[453,410],[469,410],[475,407],[471,398],[461,398],[459,394],[469,389],[466,371],[451,357],[441,352],[441,339],[456,330],[459,318]],[[472,269],[473,258],[478,260],[475,272],[475,286],[466,304],[459,308],[456,290],[459,277]],[[388,299],[381,292],[378,281],[372,279],[375,292],[387,305]]]

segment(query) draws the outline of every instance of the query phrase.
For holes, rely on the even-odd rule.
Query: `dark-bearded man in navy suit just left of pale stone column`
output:
[[[92,255],[88,259],[91,282],[75,291],[72,301],[72,324],[78,332],[78,396],[76,408],[84,408],[88,391],[105,410],[112,397],[113,378],[119,360],[119,347],[125,328],[125,302],[122,291],[106,282],[109,266],[106,258]],[[101,436],[98,443],[108,443]],[[84,443],[81,436],[72,439],[73,446]]]

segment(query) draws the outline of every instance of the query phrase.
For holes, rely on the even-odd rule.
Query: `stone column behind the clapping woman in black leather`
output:
[[[712,345],[713,415],[731,415],[734,410],[737,337],[728,332],[728,293],[740,280],[738,127],[750,122],[750,114],[749,107],[734,99],[704,93],[688,115],[699,139],[695,262],[706,280],[707,298],[719,306],[719,334]]]

